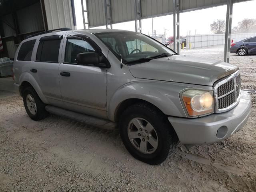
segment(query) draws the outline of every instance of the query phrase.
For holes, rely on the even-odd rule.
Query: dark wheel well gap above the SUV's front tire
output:
[[[145,101],[145,100],[142,100],[142,99],[136,99],[136,98],[133,98],[133,99],[126,99],[124,100],[122,103],[120,103],[115,111],[115,114],[114,114],[114,120],[116,122],[119,121],[122,113],[124,112],[124,110],[126,110],[126,108],[128,108],[129,106],[133,105],[133,104],[136,104],[136,103],[141,103],[141,102],[144,102],[144,103],[147,103],[151,106],[153,106],[156,110],[158,110],[158,112],[162,113],[163,115],[165,115],[157,106],[153,105],[152,103],[148,102],[148,101]]]

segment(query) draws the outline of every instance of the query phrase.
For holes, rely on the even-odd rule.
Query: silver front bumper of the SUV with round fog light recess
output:
[[[195,119],[168,117],[181,143],[210,144],[228,138],[240,130],[249,118],[250,94],[240,92],[240,101],[228,112]]]

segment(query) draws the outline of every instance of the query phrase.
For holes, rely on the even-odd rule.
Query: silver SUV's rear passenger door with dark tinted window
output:
[[[36,54],[30,65],[35,78],[49,104],[63,107],[59,84],[61,48],[66,32],[43,35],[36,42]]]

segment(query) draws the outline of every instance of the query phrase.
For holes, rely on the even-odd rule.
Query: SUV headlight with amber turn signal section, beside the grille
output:
[[[212,92],[189,89],[182,93],[182,100],[189,116],[198,116],[213,112]]]

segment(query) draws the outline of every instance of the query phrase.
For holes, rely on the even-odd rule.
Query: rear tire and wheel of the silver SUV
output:
[[[45,104],[32,87],[25,88],[22,96],[26,112],[32,120],[38,121],[46,118],[48,112],[45,110]]]

